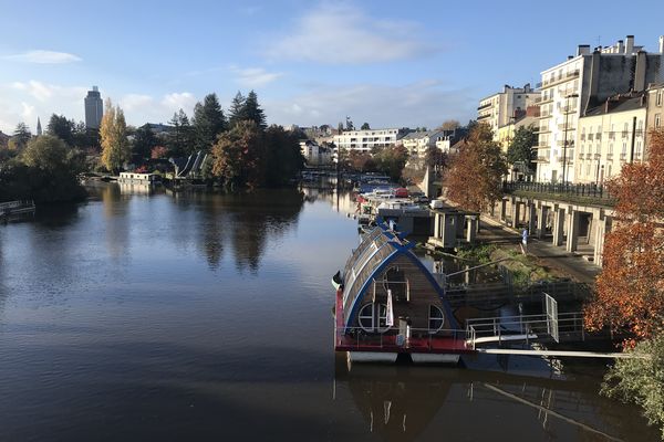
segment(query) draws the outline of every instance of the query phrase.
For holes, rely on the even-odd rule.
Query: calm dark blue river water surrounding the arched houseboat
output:
[[[601,365],[350,368],[349,196],[141,194],[0,225],[2,441],[655,441]]]

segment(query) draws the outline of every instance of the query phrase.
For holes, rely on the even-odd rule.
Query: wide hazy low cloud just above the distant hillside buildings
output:
[[[388,85],[318,85],[282,101],[264,101],[270,123],[301,126],[331,124],[350,116],[355,126],[436,127],[448,118],[469,119],[475,115],[470,91],[445,88],[439,81]]]

